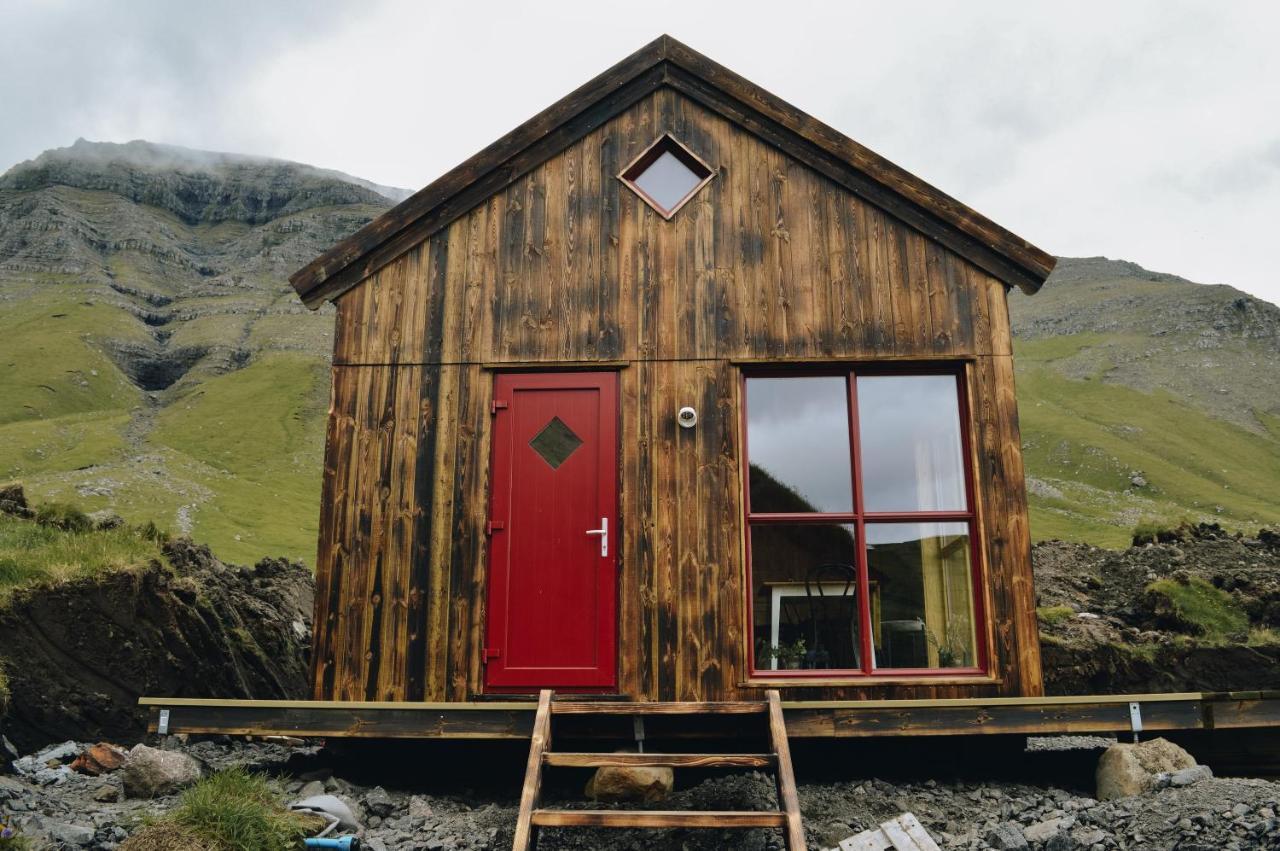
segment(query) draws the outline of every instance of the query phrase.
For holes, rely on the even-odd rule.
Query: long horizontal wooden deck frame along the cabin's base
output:
[[[952,700],[782,701],[791,738],[1132,732],[1129,704],[1142,710],[1144,733],[1280,727],[1280,691],[980,697]],[[204,700],[142,697],[156,732],[169,710],[170,733],[302,736],[324,738],[527,740],[535,701],[375,703],[324,700]],[[714,714],[716,704],[704,712]],[[572,705],[567,705],[572,714]],[[631,704],[632,710],[635,704]],[[652,704],[671,714],[680,704]],[[726,713],[744,704],[726,704]],[[721,713],[724,714],[724,713]],[[608,719],[605,719],[608,720]],[[731,735],[732,723],[723,726]],[[613,736],[617,727],[584,727]],[[700,736],[708,735],[705,729]],[[716,735],[712,731],[709,735]]]

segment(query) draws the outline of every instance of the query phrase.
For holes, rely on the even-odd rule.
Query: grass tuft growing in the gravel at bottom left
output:
[[[280,791],[243,768],[200,781],[157,822],[184,828],[218,851],[293,851],[308,834],[305,818],[285,809]]]

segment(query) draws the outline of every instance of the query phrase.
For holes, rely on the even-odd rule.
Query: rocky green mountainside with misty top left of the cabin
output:
[[[285,279],[387,209],[375,189],[146,142],[0,177],[0,480],[310,561],[333,315]]]

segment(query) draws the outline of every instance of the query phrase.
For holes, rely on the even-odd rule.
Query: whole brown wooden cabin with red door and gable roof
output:
[[[1052,266],[658,38],[293,276],[314,696],[1042,694],[1006,294]]]

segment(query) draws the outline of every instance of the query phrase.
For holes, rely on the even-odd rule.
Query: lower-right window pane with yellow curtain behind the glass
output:
[[[867,523],[877,668],[974,668],[968,523]]]

